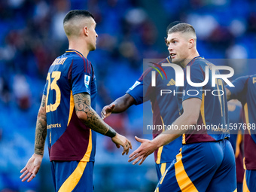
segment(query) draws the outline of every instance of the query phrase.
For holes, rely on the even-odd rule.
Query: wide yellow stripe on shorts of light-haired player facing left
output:
[[[176,155],[176,163],[175,166],[175,176],[178,182],[178,186],[180,187],[182,192],[198,192],[197,188],[194,186],[193,182],[187,175],[187,172],[184,169],[182,163],[182,154],[181,152]]]

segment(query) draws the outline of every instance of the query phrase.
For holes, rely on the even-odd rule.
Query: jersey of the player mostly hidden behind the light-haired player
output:
[[[170,63],[169,57],[158,62]],[[157,66],[154,66],[159,69]],[[151,87],[151,72],[155,69],[146,70],[138,81],[130,87],[126,93],[133,96],[136,100],[136,105],[142,104],[148,100],[151,101],[151,108],[153,111],[153,125],[172,125],[173,121],[178,118],[178,103],[175,96],[172,94],[165,94],[160,96],[160,90],[175,90],[175,71],[171,67],[162,67],[166,72],[166,78],[161,78],[159,73],[156,72],[156,87]],[[160,70],[160,69],[159,69]],[[158,130],[153,133],[153,138],[157,137],[163,130]],[[175,141],[164,145],[154,151],[154,160],[157,164],[172,162],[178,154],[181,145],[181,137]]]

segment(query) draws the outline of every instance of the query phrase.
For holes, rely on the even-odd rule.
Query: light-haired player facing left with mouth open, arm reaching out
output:
[[[187,23],[172,26],[166,41],[169,44],[172,63],[184,67],[184,87],[177,87],[181,116],[172,123],[177,129],[166,130],[153,140],[136,137],[142,144],[130,154],[129,162],[135,160],[133,164],[139,161],[139,164],[142,164],[157,148],[183,135],[180,153],[160,179],[156,191],[233,192],[236,190],[236,169],[226,127],[228,117],[224,82],[220,78],[216,79],[216,83],[212,82],[211,72],[215,66],[198,53],[197,35],[193,26]],[[206,69],[209,72],[209,81],[202,84],[205,81]],[[219,75],[219,72],[216,72]],[[189,84],[189,76],[191,82],[200,85],[196,87]],[[212,86],[212,83],[215,83],[215,86]],[[190,90],[194,90],[194,93]],[[206,94],[202,90],[209,92]],[[212,94],[219,90],[224,94]],[[218,125],[223,129],[208,129],[211,126],[219,128]],[[199,129],[200,127],[207,129]]]

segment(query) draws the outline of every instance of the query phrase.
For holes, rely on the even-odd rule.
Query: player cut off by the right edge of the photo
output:
[[[244,111],[246,123],[244,135],[244,167],[245,176],[242,191],[256,191],[256,75],[237,78],[234,87],[226,86],[227,99],[238,99]]]

